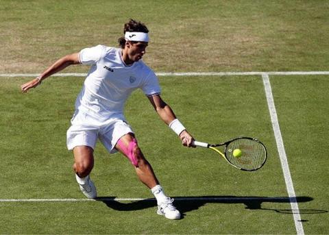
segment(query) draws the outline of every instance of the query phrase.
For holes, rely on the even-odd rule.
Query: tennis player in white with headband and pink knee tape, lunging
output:
[[[23,84],[21,90],[27,92],[35,88],[44,79],[71,64],[89,65],[90,71],[75,101],[75,112],[67,131],[67,147],[73,149],[73,169],[80,190],[90,199],[97,197],[95,184],[89,175],[94,165],[93,151],[99,139],[110,153],[119,151],[130,160],[139,180],[156,197],[158,214],[167,219],[180,219],[173,199],[164,194],[151,164],[138,146],[132,127],[123,116],[125,101],[132,91],[141,88],[164,123],[178,134],[182,145],[192,147],[193,137],[162,100],[158,78],[141,60],[149,42],[148,32],[143,23],[130,19],[124,25],[124,37],[118,40],[120,48],[97,45],[66,55],[38,77]]]

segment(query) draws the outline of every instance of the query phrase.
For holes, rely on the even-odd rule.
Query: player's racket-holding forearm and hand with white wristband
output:
[[[180,136],[180,140],[182,140],[182,145],[188,146],[188,147],[195,147],[192,145],[193,143],[193,136],[189,134],[186,129],[182,126],[182,124],[178,121],[175,114],[173,113],[173,110],[171,110],[170,106],[165,103],[160,95],[154,95],[149,97],[149,101],[151,102],[152,106],[162,119],[164,123],[169,125],[171,129],[173,129],[178,136]],[[179,123],[179,125],[177,124]]]

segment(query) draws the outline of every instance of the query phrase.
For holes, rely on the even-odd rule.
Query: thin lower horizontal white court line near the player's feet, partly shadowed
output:
[[[175,201],[264,201],[286,202],[289,197],[173,197]],[[53,198],[53,199],[0,199],[0,202],[85,202],[85,201],[156,201],[155,198],[117,198],[103,197],[98,199]]]

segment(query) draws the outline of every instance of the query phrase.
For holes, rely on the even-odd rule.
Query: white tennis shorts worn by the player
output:
[[[130,125],[122,118],[113,117],[103,122],[84,112],[75,114],[71,127],[66,133],[66,145],[69,150],[77,146],[89,146],[95,149],[97,138],[110,153],[117,152],[115,145],[119,138],[128,133],[134,133]]]

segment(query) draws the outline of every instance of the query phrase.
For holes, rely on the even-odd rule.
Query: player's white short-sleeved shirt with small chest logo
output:
[[[91,68],[75,101],[75,110],[106,121],[111,116],[123,117],[125,101],[137,88],[145,95],[160,94],[154,71],[142,60],[125,65],[119,48],[97,45],[82,49],[79,56],[80,62]]]

